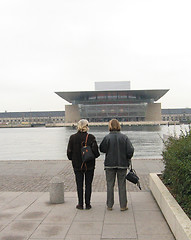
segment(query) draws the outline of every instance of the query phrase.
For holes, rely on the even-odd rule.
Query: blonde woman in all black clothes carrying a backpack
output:
[[[75,173],[75,180],[78,193],[78,205],[77,209],[84,208],[84,178],[85,178],[85,204],[86,209],[90,209],[90,200],[92,192],[92,181],[94,177],[95,169],[95,158],[99,157],[100,153],[98,150],[98,145],[96,138],[92,134],[88,134],[87,145],[91,146],[91,149],[95,155],[95,158],[82,165],[82,156],[81,148],[85,144],[88,128],[88,121],[86,119],[81,119],[77,125],[77,133],[70,136],[68,147],[67,147],[67,156],[68,159],[72,161],[72,166]]]

